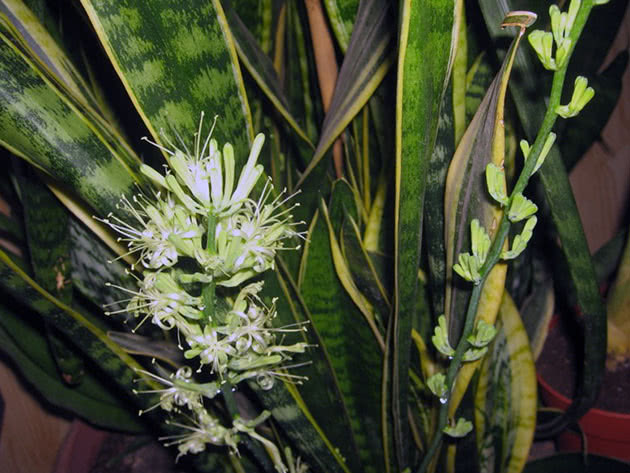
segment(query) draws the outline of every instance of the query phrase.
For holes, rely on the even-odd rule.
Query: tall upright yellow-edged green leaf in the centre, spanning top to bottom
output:
[[[408,371],[427,169],[455,45],[454,3],[400,8],[396,93],[395,304],[391,319],[392,415],[398,469],[408,466]]]

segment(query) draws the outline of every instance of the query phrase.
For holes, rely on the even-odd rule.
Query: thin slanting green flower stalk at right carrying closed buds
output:
[[[569,65],[571,55],[573,54],[573,51],[575,49],[577,40],[580,37],[582,30],[584,29],[584,25],[586,24],[586,20],[588,19],[588,16],[592,8],[593,8],[592,0],[585,0],[577,15],[573,29],[571,30],[571,34],[570,34],[570,38],[572,40],[571,49],[569,53],[567,54],[567,58],[564,62],[564,65],[558,70],[556,70],[553,75],[553,82],[551,86],[551,93],[549,97],[549,104],[547,107],[547,111],[543,118],[542,124],[540,125],[540,129],[538,130],[538,134],[536,135],[536,140],[534,142],[534,145],[531,147],[527,160],[525,161],[523,170],[518,180],[516,181],[516,184],[514,185],[514,189],[512,190],[512,193],[510,194],[510,198],[508,201],[508,205],[506,206],[506,209],[510,208],[510,205],[512,203],[512,200],[514,199],[514,196],[519,192],[523,192],[523,190],[527,186],[529,179],[532,176],[536,162],[538,161],[538,157],[540,156],[543,146],[545,145],[547,136],[553,129],[556,119],[558,118],[558,115],[556,114],[556,107],[560,105],[560,100],[562,97],[562,89],[564,87],[564,80],[566,78],[566,73],[567,73],[567,67]],[[501,218],[501,223],[499,224],[499,228],[497,230],[496,236],[492,242],[490,250],[488,251],[488,256],[486,258],[486,261],[484,262],[483,266],[479,270],[479,273],[481,274],[481,281],[479,284],[477,284],[473,288],[472,294],[470,295],[470,300],[468,303],[468,310],[466,312],[466,319],[464,322],[464,330],[457,344],[455,355],[453,356],[453,359],[451,361],[451,364],[446,374],[446,385],[448,386],[449,390],[451,390],[454,385],[455,378],[462,364],[462,357],[464,355],[464,352],[468,349],[468,346],[469,346],[467,338],[472,332],[473,327],[474,327],[475,315],[477,313],[477,308],[479,306],[479,299],[481,297],[483,285],[485,284],[485,281],[488,275],[490,274],[490,271],[492,270],[492,268],[501,259],[501,252],[503,251],[503,245],[505,244],[505,240],[509,234],[509,231],[510,231],[510,221],[507,218],[507,212],[504,212],[503,217]],[[431,445],[429,446],[429,449],[427,450],[426,455],[424,456],[422,460],[422,463],[420,464],[420,467],[417,470],[417,473],[424,473],[425,471],[427,471],[427,468],[431,464],[433,457],[436,455],[438,451],[438,448],[442,442],[442,436],[444,435],[443,433],[444,427],[446,427],[446,424],[448,422],[449,404],[450,404],[450,399],[449,401],[447,401],[446,403],[440,406],[438,424],[437,424],[435,435],[433,437],[433,440],[431,441]]]

